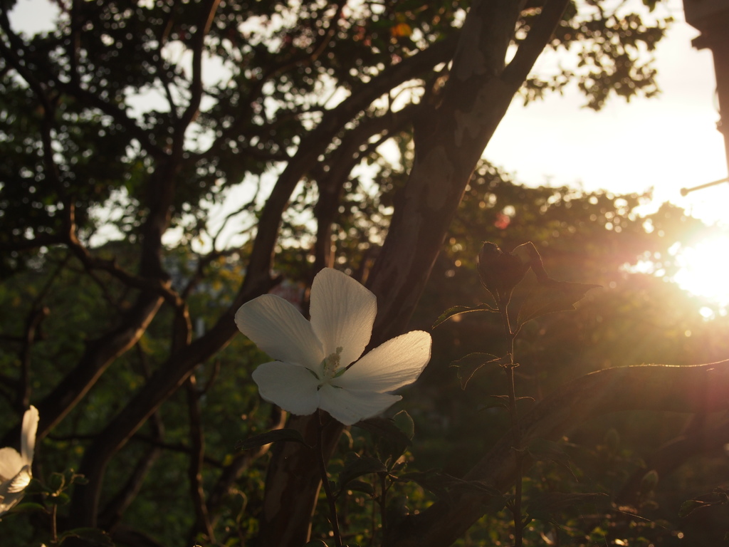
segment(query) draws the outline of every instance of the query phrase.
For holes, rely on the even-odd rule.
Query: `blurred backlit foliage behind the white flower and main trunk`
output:
[[[393,206],[403,198],[417,106],[437,98],[469,7],[443,0],[295,7],[220,1],[203,34],[201,13],[210,3],[61,1],[57,28],[30,36],[10,23],[13,4],[4,0],[0,10],[3,432],[12,432],[29,403],[45,400],[74,373],[94,341],[124,324],[150,279],[168,283],[182,300],[193,340],[213,330],[247,274],[276,177],[303,161],[302,150],[316,160],[303,168],[281,219],[274,290],[305,309],[305,287],[324,265],[366,282]],[[515,44],[538,8],[525,8]],[[549,48],[569,50],[577,62],[530,77],[524,100],[564,85],[578,85],[596,109],[612,95],[652,95],[655,74],[642,53],[652,50],[666,24],[647,9],[624,15],[600,2],[570,4]],[[421,64],[397,72],[423,52],[431,54]],[[725,311],[670,281],[674,244],[697,241],[712,228],[669,204],[652,214],[636,212],[649,200],[524,187],[481,163],[410,327],[430,330],[443,310],[488,301],[475,265],[483,241],[504,249],[532,241],[555,279],[602,288],[590,291],[577,311],[526,325],[517,342],[520,395],[539,400],[603,368],[725,359]],[[164,237],[155,241],[160,219]],[[646,263],[652,271],[636,268]],[[529,290],[529,279],[520,290]],[[522,297],[515,296],[514,306]],[[139,338],[44,436],[36,456],[39,481],[83,470],[99,432],[174,354],[177,311],[165,300],[139,327]],[[405,409],[416,423],[398,472],[461,476],[507,431],[503,409],[486,408],[488,396],[503,395],[505,387],[499,368],[485,368],[461,390],[448,365],[470,352],[499,354],[502,330],[490,314],[475,313],[432,334],[431,364],[391,411]],[[266,360],[253,344],[236,335],[213,353],[109,462],[98,519],[115,543],[256,544],[269,454],[241,453],[235,443],[280,425],[281,413],[260,401],[250,379]],[[720,418],[701,424],[706,421],[721,430]],[[605,492],[609,499],[566,507],[555,522],[537,519],[526,539],[719,545],[729,532],[726,505],[678,515],[688,497],[726,478],[722,443],[697,445],[668,476],[626,490],[631,475],[650,471],[658,446],[696,423],[682,415],[623,413],[571,432],[561,441],[569,464],[537,462],[527,499],[554,491]],[[346,432],[332,473],[348,452],[374,455],[372,441],[357,427]],[[442,494],[432,481],[406,478],[389,492],[390,519]],[[378,488],[373,477],[362,481]],[[214,541],[200,525],[200,490]],[[342,508],[348,540],[363,546],[381,539],[369,492],[353,487]],[[61,506],[61,528],[73,519],[70,511]],[[0,523],[4,541],[14,545],[39,545],[49,529],[47,516],[33,511]],[[326,516],[317,513],[313,529],[327,539]],[[484,543],[510,544],[504,512],[488,513],[460,542]]]

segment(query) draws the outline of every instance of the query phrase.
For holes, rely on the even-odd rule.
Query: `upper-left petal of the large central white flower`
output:
[[[235,313],[235,325],[273,359],[319,371],[326,357],[311,323],[276,295],[261,295],[243,304]]]

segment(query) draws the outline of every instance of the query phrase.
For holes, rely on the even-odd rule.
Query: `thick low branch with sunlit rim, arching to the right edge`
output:
[[[556,440],[593,416],[617,411],[714,412],[729,409],[729,361],[710,365],[610,368],[564,384],[523,416],[521,438]],[[464,476],[505,492],[516,476],[509,431]],[[526,465],[526,462],[525,462]],[[446,547],[486,512],[489,496],[453,492],[393,530],[390,547]]]

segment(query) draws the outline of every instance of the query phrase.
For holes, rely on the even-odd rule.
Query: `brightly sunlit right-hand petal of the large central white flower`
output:
[[[391,392],[412,384],[430,360],[430,335],[422,330],[386,341],[332,381],[344,389]]]

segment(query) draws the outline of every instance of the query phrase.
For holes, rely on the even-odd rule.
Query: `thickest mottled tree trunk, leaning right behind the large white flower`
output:
[[[370,346],[407,328],[473,170],[565,6],[564,0],[547,1],[521,53],[506,68],[521,4],[479,1],[469,11],[443,101],[416,123],[415,163],[396,198],[389,233],[370,276],[369,288],[378,298]],[[315,416],[305,416],[296,423],[308,430],[315,422]],[[340,431],[328,432],[332,449]],[[305,449],[292,446],[274,455],[260,523],[262,546],[300,547],[308,540],[319,487],[318,470]]]

